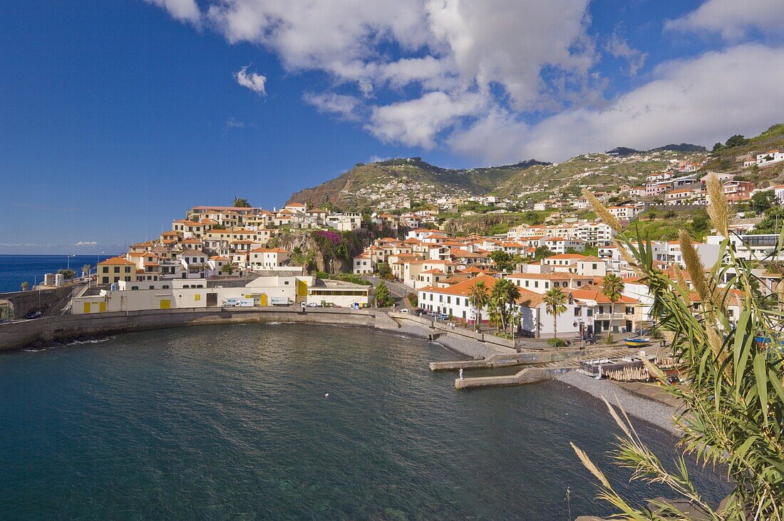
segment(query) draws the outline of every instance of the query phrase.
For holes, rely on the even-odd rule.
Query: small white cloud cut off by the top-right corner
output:
[[[707,0],[691,13],[667,20],[670,31],[710,31],[726,40],[739,40],[750,31],[784,34],[782,0]]]

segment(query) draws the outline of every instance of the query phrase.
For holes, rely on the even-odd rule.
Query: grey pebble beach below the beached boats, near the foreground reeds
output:
[[[612,405],[623,407],[626,414],[640,418],[673,435],[679,435],[679,431],[673,425],[673,415],[677,412],[675,407],[633,395],[609,380],[597,380],[577,371],[561,374],[556,380],[597,398],[604,397]]]

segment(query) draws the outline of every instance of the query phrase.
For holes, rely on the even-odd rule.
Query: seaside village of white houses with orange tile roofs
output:
[[[784,161],[784,154],[772,150],[756,161]],[[664,204],[705,204],[707,176],[698,171],[699,165],[686,164],[648,175],[645,186],[627,187],[623,204],[608,211],[626,226],[647,208],[648,203],[641,201],[645,196],[663,194]],[[751,183],[731,175],[720,175],[720,180],[731,202],[746,201],[756,191]],[[758,190],[772,190],[778,201],[784,200],[784,186]],[[607,201],[610,195],[599,197]],[[586,204],[580,199],[572,206]],[[392,237],[373,240],[354,257],[354,275],[396,280],[408,293],[398,294],[408,297],[401,299],[398,309],[472,330],[489,319],[486,307],[472,306],[472,288],[481,281],[492,291],[501,279],[510,280],[519,290],[519,324],[514,333],[521,337],[553,338],[556,331],[559,338],[630,335],[653,325],[652,298],[613,245],[615,232],[601,220],[556,212],[549,222],[521,224],[503,235],[456,236],[438,229],[436,216],[430,210],[370,215],[369,223]],[[72,299],[71,313],[207,306],[372,306],[371,285],[315,277],[296,266],[291,251],[270,247],[284,229],[350,232],[362,226],[368,226],[368,218],[360,213],[331,213],[301,203],[272,212],[196,206],[187,211],[187,219],[174,220],[172,229],[156,240],[132,244],[124,255],[100,262],[91,280],[96,286]],[[732,230],[732,241],[739,255],[764,256],[777,237],[754,234],[751,229],[741,220]],[[704,243],[695,244],[703,265],[713,266],[720,241],[720,236],[709,235]],[[497,251],[514,262],[499,266],[494,260],[499,258],[494,255]],[[652,251],[665,273],[673,273],[673,265],[682,262],[677,241],[653,242]],[[775,291],[780,274],[758,271],[768,281],[764,291]],[[623,283],[621,294],[612,300],[603,288],[608,274]],[[565,295],[565,309],[556,317],[548,313],[545,302],[554,288]],[[696,303],[697,295],[692,298]],[[729,312],[739,317],[739,302]]]

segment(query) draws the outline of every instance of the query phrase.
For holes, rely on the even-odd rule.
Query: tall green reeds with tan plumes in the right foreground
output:
[[[687,286],[684,274],[676,269],[674,277],[655,266],[652,245],[643,237],[619,236],[624,256],[633,258],[633,270],[642,277],[653,297],[652,313],[660,331],[672,340],[674,360],[686,385],[665,385],[667,393],[683,405],[674,422],[681,430],[678,447],[684,454],[727,472],[731,494],[718,508],[703,500],[686,471],[683,456],[675,470],[662,465],[644,445],[626,417],[609,403],[615,422],[623,435],[612,453],[616,465],[632,469],[635,480],[661,483],[670,494],[706,512],[701,519],[784,519],[784,389],[780,349],[784,317],[779,311],[782,295],[762,295],[757,291],[755,268],[760,259],[739,258],[728,230],[730,205],[716,175],[707,182],[708,210],[717,234],[724,237],[714,266],[706,270],[691,242],[681,230],[679,242],[684,265],[691,277]],[[597,212],[606,209],[592,204]],[[619,230],[616,230],[619,231]],[[780,255],[782,239],[773,248]],[[754,255],[752,254],[752,257]],[[728,274],[730,275],[728,277]],[[690,291],[699,295],[698,309]],[[737,299],[740,313],[731,316],[728,304]],[[648,360],[648,372],[660,382],[665,374]],[[619,519],[691,519],[671,501],[656,501],[650,506],[633,505],[612,487],[604,473],[593,465],[588,454],[572,443],[579,459],[601,483],[599,497],[609,501]]]

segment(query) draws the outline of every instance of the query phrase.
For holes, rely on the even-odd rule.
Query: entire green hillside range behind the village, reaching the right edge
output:
[[[435,205],[441,200],[494,195],[526,208],[550,197],[568,200],[587,187],[594,192],[617,192],[621,186],[641,186],[652,172],[684,162],[702,163],[702,172],[735,172],[765,186],[784,183],[784,165],[743,167],[743,161],[771,149],[784,150],[784,124],[760,136],[732,136],[712,151],[689,143],[640,151],[617,147],[606,153],[583,154],[558,164],[524,161],[487,168],[440,168],[419,157],[397,158],[369,165],[359,163],[336,179],[292,194],[288,202],[314,206],[332,204],[343,210],[391,211]],[[443,201],[441,201],[443,202]],[[514,208],[513,208],[514,209]]]

